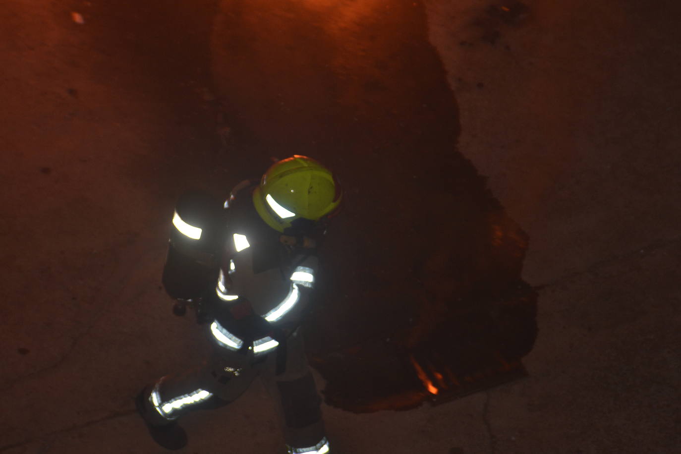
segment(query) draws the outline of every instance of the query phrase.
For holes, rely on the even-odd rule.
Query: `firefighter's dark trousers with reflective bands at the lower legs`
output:
[[[277,356],[284,354],[285,362]],[[274,400],[289,452],[326,453],[321,398],[308,367],[300,329],[274,352],[242,355],[215,345],[201,366],[159,378],[144,390],[144,419],[166,425],[199,409],[215,409],[236,400],[255,377],[262,378]]]

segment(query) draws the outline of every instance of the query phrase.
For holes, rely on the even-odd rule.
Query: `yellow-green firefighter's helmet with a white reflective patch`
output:
[[[314,159],[294,155],[265,172],[253,191],[253,205],[267,225],[284,233],[289,227],[329,216],[342,197],[329,169]]]

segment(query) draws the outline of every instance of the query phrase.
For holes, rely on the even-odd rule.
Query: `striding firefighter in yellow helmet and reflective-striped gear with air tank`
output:
[[[332,172],[299,155],[274,163],[259,182],[241,182],[224,204],[201,193],[180,197],[163,285],[180,303],[176,314],[193,306],[211,351],[200,367],[163,376],[137,396],[161,446],[185,446],[179,417],[229,404],[259,376],[288,453],[330,452],[300,324],[318,278],[319,242],[341,198]]]

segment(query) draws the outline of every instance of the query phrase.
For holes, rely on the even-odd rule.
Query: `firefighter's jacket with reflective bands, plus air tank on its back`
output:
[[[240,183],[217,208],[206,195],[180,197],[163,272],[172,297],[199,303],[211,340],[251,363],[285,351],[318,267],[315,248],[262,221],[251,199],[256,185]]]

